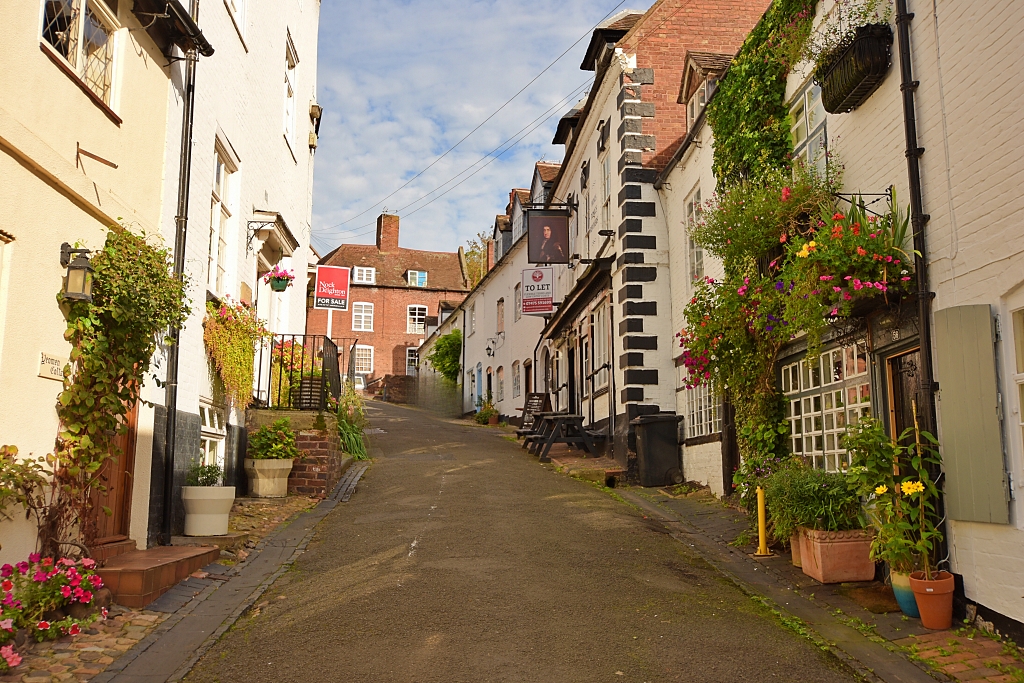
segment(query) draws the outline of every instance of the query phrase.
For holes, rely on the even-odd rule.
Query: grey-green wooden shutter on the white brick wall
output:
[[[1008,524],[995,338],[988,304],[935,312],[935,379],[950,519]]]

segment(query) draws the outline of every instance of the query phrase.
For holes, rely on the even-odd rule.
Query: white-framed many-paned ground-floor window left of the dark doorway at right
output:
[[[822,351],[782,368],[793,453],[812,467],[836,472],[850,465],[843,447],[847,425],[871,414],[867,347],[863,342]]]

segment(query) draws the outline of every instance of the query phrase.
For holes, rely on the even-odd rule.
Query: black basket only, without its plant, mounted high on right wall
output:
[[[857,27],[814,69],[821,102],[829,114],[857,109],[874,92],[892,66],[893,30],[888,24]]]

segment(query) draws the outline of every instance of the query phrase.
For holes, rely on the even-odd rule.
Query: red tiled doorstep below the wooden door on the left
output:
[[[98,573],[116,603],[138,608],[219,557],[217,546],[158,546],[112,557]]]

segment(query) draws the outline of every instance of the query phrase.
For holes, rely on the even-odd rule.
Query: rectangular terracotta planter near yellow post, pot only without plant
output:
[[[801,526],[801,568],[822,584],[874,579],[871,535],[866,529],[820,531]]]

